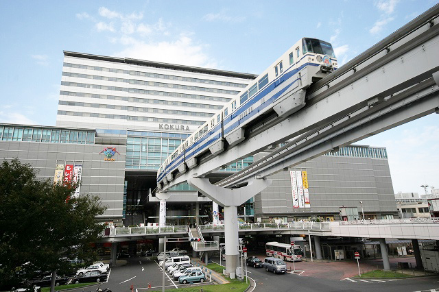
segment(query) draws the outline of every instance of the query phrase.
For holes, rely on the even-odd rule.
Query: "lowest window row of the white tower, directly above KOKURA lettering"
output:
[[[137,117],[137,116],[126,116],[119,114],[97,114],[95,112],[69,112],[66,110],[58,110],[58,114],[62,116],[91,117],[91,118],[100,118],[100,119],[121,119],[128,121],[147,121],[147,122],[171,123],[171,124],[179,124],[179,125],[202,125],[204,123],[204,121]]]

